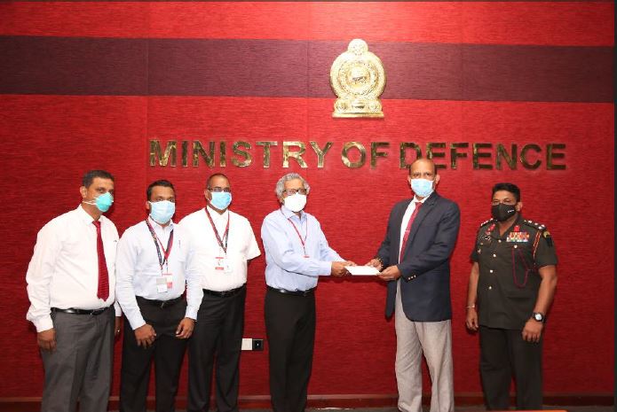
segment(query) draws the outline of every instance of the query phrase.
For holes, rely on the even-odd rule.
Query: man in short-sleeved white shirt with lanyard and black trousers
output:
[[[218,412],[237,412],[247,265],[261,253],[249,221],[228,209],[232,201],[229,179],[211,175],[204,194],[207,206],[180,222],[194,251],[189,266],[201,276],[203,288],[188,345],[186,410],[208,411],[216,356]]]

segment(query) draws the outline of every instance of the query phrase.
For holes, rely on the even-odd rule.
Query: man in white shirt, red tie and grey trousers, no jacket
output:
[[[26,274],[44,412],[74,412],[78,400],[81,412],[103,412],[109,399],[121,315],[112,307],[118,231],[102,214],[114,202],[114,177],[91,170],[82,183],[82,204],[38,232]]]

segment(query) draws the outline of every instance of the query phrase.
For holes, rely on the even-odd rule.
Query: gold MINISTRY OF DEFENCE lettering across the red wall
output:
[[[341,144],[341,143],[339,143]],[[375,169],[384,165],[390,159],[391,142],[370,142],[370,168]],[[274,140],[260,140],[252,144],[250,141],[238,140],[228,142],[225,140],[208,141],[202,144],[199,140],[168,140],[164,144],[159,139],[149,141],[148,164],[150,167],[176,167],[178,162],[178,150],[180,151],[180,164],[188,167],[189,162],[193,167],[205,165],[207,167],[249,167],[254,166],[253,157],[256,150],[253,145],[263,147],[262,167],[271,167],[273,161],[278,162],[283,168],[289,167],[290,159],[293,159],[302,168],[316,167],[318,169],[328,167],[332,162],[331,149],[336,146],[335,142],[325,142],[320,145],[316,141],[309,141],[312,152],[316,157],[306,156],[306,142],[293,140],[277,142]],[[282,146],[282,152],[273,150]],[[399,168],[407,168],[415,159],[427,157],[435,160],[439,169],[457,170],[461,163],[471,161],[473,170],[517,170],[518,164],[524,169],[535,170],[566,170],[566,144],[550,143],[469,143],[469,142],[429,142],[425,144],[425,150],[415,142],[400,142],[399,145]],[[164,146],[164,149],[163,149]],[[231,146],[231,152],[227,152]],[[518,148],[521,148],[520,151]],[[415,153],[414,153],[415,152]],[[310,153],[309,153],[310,154]],[[229,155],[229,156],[228,156]],[[276,156],[276,157],[274,157]],[[448,159],[449,157],[449,159]],[[200,158],[202,161],[200,161]],[[469,160],[471,159],[471,160]],[[308,160],[308,161],[307,161]],[[341,161],[345,167],[360,168],[367,162],[367,148],[359,141],[342,143]],[[218,162],[218,164],[217,164]],[[310,163],[309,163],[310,162]],[[468,163],[469,164],[469,163]]]

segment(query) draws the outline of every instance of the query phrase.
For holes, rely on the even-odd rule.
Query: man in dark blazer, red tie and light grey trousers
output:
[[[455,202],[435,191],[439,175],[431,159],[409,167],[414,198],[392,208],[376,258],[388,282],[385,315],[395,313],[399,410],[422,412],[422,355],[431,373],[431,412],[454,411],[450,254],[460,226]]]

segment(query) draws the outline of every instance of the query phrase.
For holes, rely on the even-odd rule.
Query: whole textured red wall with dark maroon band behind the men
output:
[[[179,220],[203,205],[205,177],[222,171],[233,209],[257,234],[277,206],[274,183],[298,171],[312,185],[307,211],[330,245],[363,263],[382,240],[390,207],[409,196],[401,142],[423,152],[427,143],[470,144],[456,169],[449,155],[438,160],[448,165],[439,192],[462,210],[452,259],[455,391],[480,390],[478,338],[463,324],[468,256],[500,181],[521,187],[524,214],[548,226],[558,250],[545,392],[613,390],[612,3],[37,2],[0,4],[0,15],[0,398],[41,393],[25,272],[37,230],[77,205],[85,170],[116,176],[109,215],[121,232],[144,217],[154,179],[177,185]],[[384,61],[383,120],[331,118],[329,67],[354,37]],[[150,167],[151,139],[225,141],[226,167],[202,159],[182,167],[179,153],[177,167]],[[249,167],[233,166],[236,141],[251,144]],[[268,168],[257,141],[278,142]],[[307,168],[293,159],[281,167],[282,141],[306,144]],[[333,142],[325,167],[309,141]],[[350,141],[390,147],[376,167],[367,160],[348,168],[341,150]],[[474,170],[474,143],[538,144],[542,152],[529,159],[542,165]],[[565,170],[547,169],[546,144],[566,144],[565,159],[556,160]],[[482,163],[494,166],[494,155]],[[265,338],[264,265],[260,257],[249,268],[250,338]],[[373,280],[321,280],[311,394],[396,392],[384,291]],[[241,394],[268,393],[266,360],[265,352],[242,354]]]

